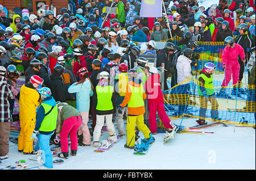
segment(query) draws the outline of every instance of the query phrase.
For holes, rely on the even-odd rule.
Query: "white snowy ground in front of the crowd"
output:
[[[196,119],[184,118],[182,125],[196,125]],[[180,124],[180,120],[174,123]],[[216,127],[200,129],[213,134],[177,133],[174,140],[163,145],[164,133],[154,135],[156,141],[146,155],[134,155],[133,150],[123,148],[126,137],[105,153],[96,153],[93,146],[78,147],[77,156],[55,165],[55,170],[191,170],[191,169],[255,169],[255,129],[241,127]],[[140,133],[143,138],[143,134]],[[102,134],[101,140],[108,137]],[[30,165],[39,165],[31,161],[30,155],[18,153],[17,146],[11,146],[9,158],[2,164],[15,165],[15,161],[25,159]],[[32,157],[34,157],[33,155]],[[36,156],[35,156],[36,157]],[[53,157],[57,159],[57,157]]]

